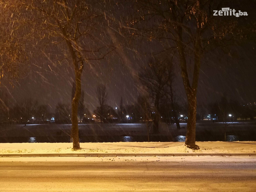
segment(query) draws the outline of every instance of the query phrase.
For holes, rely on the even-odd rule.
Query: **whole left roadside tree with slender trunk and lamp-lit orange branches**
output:
[[[72,99],[72,139],[73,149],[79,149],[78,105],[81,97],[81,74],[84,65],[92,68],[93,60],[104,59],[114,46],[101,46],[104,33],[103,21],[111,20],[103,11],[106,3],[95,1],[18,1],[26,16],[25,23],[31,44],[54,65],[71,63],[75,75],[75,94]],[[99,8],[99,7],[102,7]],[[105,22],[106,23],[106,22]],[[47,56],[44,49],[55,46],[59,50],[57,59]],[[104,52],[104,54],[102,54]]]

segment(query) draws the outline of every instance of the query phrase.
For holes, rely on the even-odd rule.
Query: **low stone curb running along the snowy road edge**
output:
[[[256,156],[256,153],[49,153],[0,154],[0,157],[143,157],[143,156]]]

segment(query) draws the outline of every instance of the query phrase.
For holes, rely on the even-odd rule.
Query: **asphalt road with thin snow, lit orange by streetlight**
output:
[[[255,191],[255,162],[1,162],[0,191]]]

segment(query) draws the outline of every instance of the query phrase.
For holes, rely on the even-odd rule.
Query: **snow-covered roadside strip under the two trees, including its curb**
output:
[[[196,142],[192,150],[184,142],[80,143],[0,143],[0,157],[56,156],[256,156],[255,141]]]

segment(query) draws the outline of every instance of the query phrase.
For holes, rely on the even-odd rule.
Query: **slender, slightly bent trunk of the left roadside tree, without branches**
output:
[[[72,139],[73,139],[73,149],[80,149],[79,144],[79,131],[78,131],[78,103],[81,97],[81,74],[79,71],[75,71],[76,75],[76,91],[74,98],[72,100]]]

